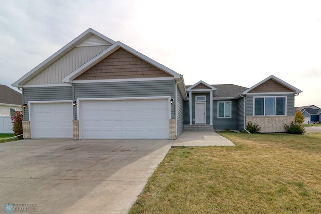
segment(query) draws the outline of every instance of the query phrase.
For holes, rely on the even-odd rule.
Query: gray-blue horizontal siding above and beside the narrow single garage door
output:
[[[72,87],[37,87],[23,88],[23,103],[29,101],[58,101],[58,100],[73,100]],[[70,103],[70,105],[72,105]],[[24,108],[24,120],[29,120],[29,108]]]

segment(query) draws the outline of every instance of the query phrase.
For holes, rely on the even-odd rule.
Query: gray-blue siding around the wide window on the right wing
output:
[[[253,97],[276,97],[276,96],[286,96],[286,114],[287,116],[295,115],[294,111],[294,94],[264,94],[264,95],[246,95],[246,116],[253,116]]]

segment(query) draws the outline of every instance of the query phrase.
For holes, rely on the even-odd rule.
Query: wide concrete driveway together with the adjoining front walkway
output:
[[[2,143],[0,207],[12,204],[15,211],[36,210],[29,213],[127,213],[172,145],[184,141],[187,146],[221,145],[226,140],[217,137],[215,132],[184,132],[176,141]]]

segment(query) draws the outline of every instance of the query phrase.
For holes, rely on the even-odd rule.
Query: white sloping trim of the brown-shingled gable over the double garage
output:
[[[88,69],[90,69],[91,67],[93,67],[94,65],[96,65],[97,63],[99,63],[100,61],[102,61],[103,59],[108,57],[109,55],[111,55],[112,53],[114,53],[119,48],[122,48],[122,49],[128,51],[129,53],[131,53],[131,54],[135,55],[136,57],[146,61],[147,63],[150,63],[151,65],[155,66],[156,68],[158,68],[158,69],[160,69],[160,70],[172,75],[175,79],[181,79],[181,77],[182,77],[182,75],[180,75],[179,73],[176,73],[175,71],[167,68],[166,66],[162,65],[161,63],[158,63],[155,60],[152,60],[151,58],[149,58],[149,57],[143,55],[142,53],[134,50],[133,48],[125,45],[124,43],[122,43],[120,41],[117,41],[113,45],[111,45],[110,47],[108,47],[107,49],[105,49],[104,51],[99,53],[97,56],[93,57],[91,60],[89,60],[88,62],[86,62],[85,64],[83,64],[79,68],[77,68],[75,71],[73,71],[72,73],[67,75],[63,79],[63,82],[71,84],[74,79],[76,79],[78,76],[80,76],[81,74],[86,72]]]

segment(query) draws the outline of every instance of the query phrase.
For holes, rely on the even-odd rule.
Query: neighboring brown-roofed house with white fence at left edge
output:
[[[22,106],[21,93],[0,85],[0,133],[13,133],[11,116],[20,111]]]

